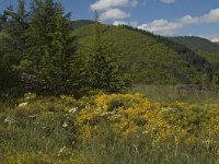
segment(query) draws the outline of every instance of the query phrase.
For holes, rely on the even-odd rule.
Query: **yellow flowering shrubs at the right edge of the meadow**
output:
[[[194,137],[219,133],[219,105],[198,106],[176,102],[165,105],[160,116],[171,126],[176,125]]]

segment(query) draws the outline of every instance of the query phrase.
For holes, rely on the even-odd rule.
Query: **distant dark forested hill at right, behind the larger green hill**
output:
[[[178,36],[170,37],[171,39],[186,45],[194,50],[208,51],[208,52],[219,52],[219,44],[212,43],[206,38],[197,36]]]

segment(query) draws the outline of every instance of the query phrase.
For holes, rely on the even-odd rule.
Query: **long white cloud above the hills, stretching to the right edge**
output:
[[[219,23],[219,9],[214,9],[209,13],[201,16],[186,15],[175,21],[154,20],[152,22],[141,24],[138,27],[160,35],[175,35],[180,30],[187,25],[200,23]]]

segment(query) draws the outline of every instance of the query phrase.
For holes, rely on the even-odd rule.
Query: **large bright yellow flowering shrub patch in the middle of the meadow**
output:
[[[89,140],[96,126],[110,121],[111,128],[119,136],[131,133],[150,134],[154,143],[172,138],[192,140],[192,136],[178,126],[170,125],[159,114],[161,104],[146,98],[141,94],[99,94],[91,97],[89,107],[82,108],[77,117],[79,133]]]

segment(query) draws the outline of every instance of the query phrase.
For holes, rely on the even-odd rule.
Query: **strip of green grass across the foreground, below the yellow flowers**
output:
[[[54,119],[56,121],[53,121]],[[169,142],[154,148],[151,144],[150,136],[147,134],[117,140],[107,122],[103,122],[99,133],[90,142],[76,147],[76,143],[70,141],[72,132],[61,127],[60,116],[51,116],[47,120],[24,120],[22,126],[15,126],[12,129],[1,128],[0,163],[9,163],[9,156],[13,156],[18,161],[22,160],[23,163],[42,164],[58,162],[69,164],[72,162],[87,164],[92,162],[96,164],[214,164],[217,160],[217,147],[207,149],[201,143],[191,147]]]

